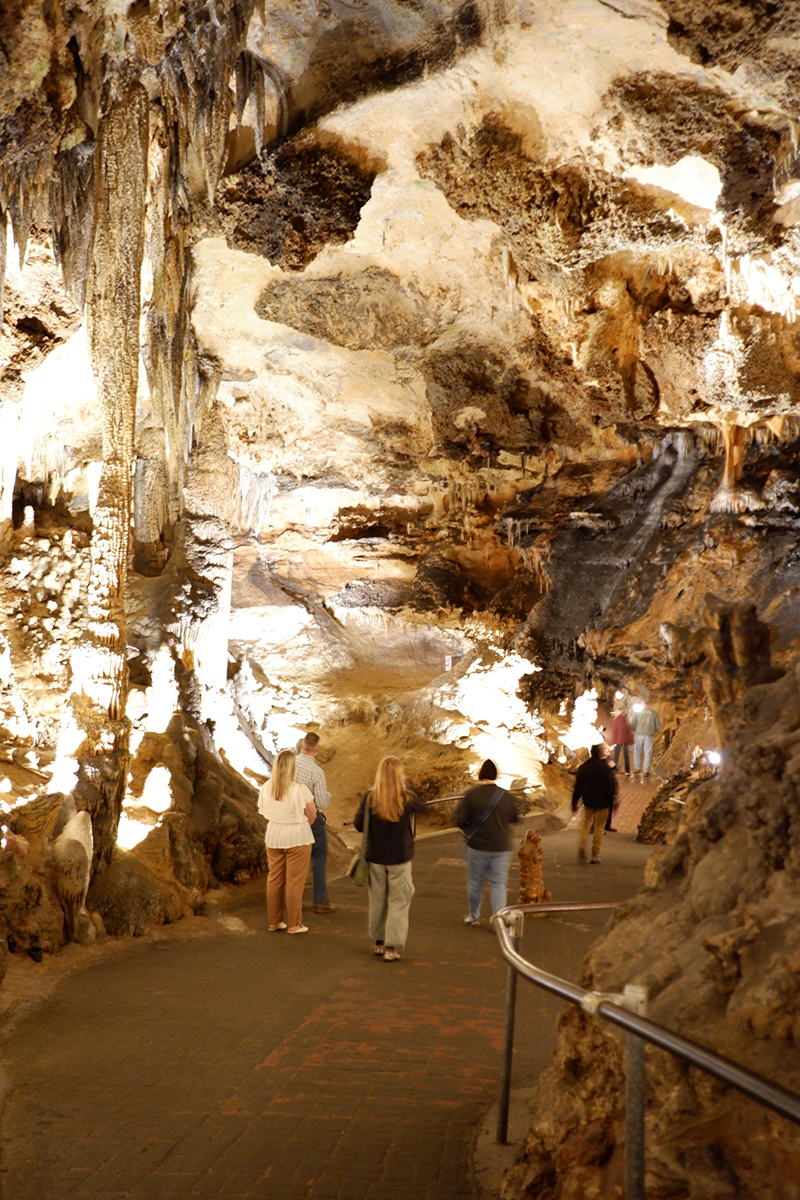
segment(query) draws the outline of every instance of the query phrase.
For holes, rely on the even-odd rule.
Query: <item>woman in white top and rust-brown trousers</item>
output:
[[[302,889],[306,884],[311,847],[311,827],[317,816],[314,798],[303,784],[295,782],[293,750],[282,750],[272,764],[272,778],[259,792],[258,811],[267,820],[266,911],[270,932],[287,929],[283,919],[285,901],[289,934],[307,934],[302,923]]]

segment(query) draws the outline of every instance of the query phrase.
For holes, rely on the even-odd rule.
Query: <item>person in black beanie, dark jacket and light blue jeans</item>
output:
[[[497,782],[498,768],[491,758],[481,767],[477,787],[470,787],[458,802],[455,823],[465,839],[467,900],[465,925],[481,919],[483,883],[489,882],[492,912],[506,906],[509,865],[513,852],[511,826],[519,820],[517,804]]]

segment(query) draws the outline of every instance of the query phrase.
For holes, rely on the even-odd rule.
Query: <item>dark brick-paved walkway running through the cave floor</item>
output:
[[[648,854],[618,833],[582,868],[571,830],[545,851],[564,900],[634,894]],[[473,1200],[505,966],[488,923],[462,924],[459,835],[420,839],[414,877],[401,962],[372,956],[349,880],[301,937],[267,932],[257,881],[227,924],[182,922],[68,973],[2,1046],[4,1200]],[[575,979],[606,920],[529,920],[523,953]],[[516,1084],[548,1064],[560,1008],[521,986]]]

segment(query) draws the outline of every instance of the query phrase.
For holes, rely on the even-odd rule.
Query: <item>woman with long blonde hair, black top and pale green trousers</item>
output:
[[[369,937],[375,955],[384,962],[396,962],[405,946],[414,895],[411,812],[425,812],[425,804],[409,787],[399,758],[391,757],[378,763],[375,781],[361,800],[353,822],[359,833],[363,830],[367,804]]]

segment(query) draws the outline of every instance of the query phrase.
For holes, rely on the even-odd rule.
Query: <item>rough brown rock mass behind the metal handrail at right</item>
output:
[[[796,666],[733,698],[717,695],[715,715],[724,768],[676,781],[684,800],[670,845],[654,854],[646,890],[615,912],[581,982],[602,992],[642,985],[654,1021],[796,1090]],[[504,1196],[621,1187],[625,1074],[607,1028],[582,1013],[561,1019],[555,1064]],[[648,1195],[794,1189],[787,1164],[800,1153],[796,1132],[661,1051],[649,1051],[646,1144]]]

